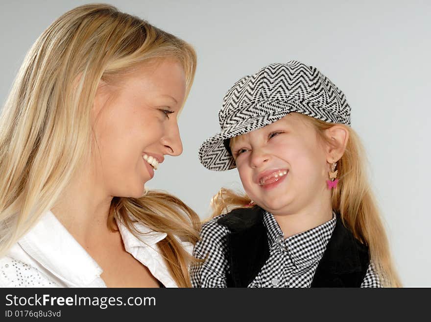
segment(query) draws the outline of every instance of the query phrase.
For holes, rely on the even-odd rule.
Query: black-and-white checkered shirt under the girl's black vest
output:
[[[217,223],[220,215],[205,223],[201,239],[193,254],[206,260],[191,268],[193,287],[226,287],[229,273],[227,227]],[[264,212],[269,258],[248,287],[310,287],[319,261],[335,228],[336,216],[310,230],[284,239],[283,232],[271,213]],[[361,287],[382,287],[371,263]]]

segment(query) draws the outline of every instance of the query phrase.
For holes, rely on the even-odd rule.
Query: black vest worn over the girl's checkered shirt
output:
[[[229,229],[227,243],[230,273],[228,287],[247,287],[269,258],[263,209],[240,208],[217,223]],[[311,287],[360,287],[369,265],[368,247],[343,225],[339,216],[331,239],[317,265]]]

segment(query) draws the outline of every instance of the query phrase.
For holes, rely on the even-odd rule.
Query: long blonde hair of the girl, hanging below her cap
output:
[[[332,144],[325,130],[335,124],[304,114],[298,115],[314,126],[320,139]],[[349,126],[342,124],[341,126],[349,131],[350,137],[344,155],[337,162],[339,181],[337,188],[332,190],[332,208],[340,214],[342,222],[353,232],[353,235],[361,243],[368,245],[371,261],[379,276],[382,277],[383,285],[400,287],[401,283],[393,267],[380,211],[368,183],[364,149],[355,131]],[[213,217],[248,205],[250,202],[251,199],[247,195],[222,188],[211,201]]]

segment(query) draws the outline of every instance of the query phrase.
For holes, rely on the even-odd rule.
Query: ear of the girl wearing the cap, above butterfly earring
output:
[[[341,159],[349,140],[349,130],[341,124],[336,124],[325,130],[329,142],[326,144],[326,160],[334,163]]]

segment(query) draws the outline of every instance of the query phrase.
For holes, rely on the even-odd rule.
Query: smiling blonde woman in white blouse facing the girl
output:
[[[182,152],[195,66],[190,45],[105,4],[39,37],[0,119],[1,286],[191,285],[199,219],[144,183]]]

